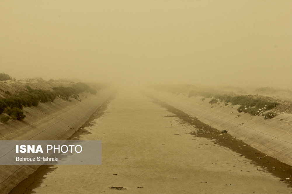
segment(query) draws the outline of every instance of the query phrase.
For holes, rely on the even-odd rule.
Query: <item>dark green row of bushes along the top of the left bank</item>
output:
[[[76,83],[72,87],[56,87],[53,91],[50,90],[37,90],[26,86],[28,91],[21,91],[16,96],[11,96],[8,98],[0,99],[0,114],[4,111],[11,116],[13,120],[21,120],[25,118],[22,108],[23,106],[37,106],[39,102],[53,102],[56,96],[64,97],[64,99],[69,99],[69,97],[78,97],[80,92],[90,92],[96,94],[96,90],[91,88],[85,83]],[[1,117],[1,120],[7,121],[9,118]],[[2,121],[1,121],[2,122]]]

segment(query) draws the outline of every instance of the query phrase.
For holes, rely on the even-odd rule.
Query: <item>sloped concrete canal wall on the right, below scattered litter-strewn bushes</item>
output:
[[[275,118],[264,120],[261,116],[238,113],[239,105],[232,108],[224,103],[210,105],[210,99],[201,101],[201,97],[189,98],[153,90],[150,93],[220,131],[227,130],[235,138],[269,156],[292,165],[292,115],[278,113]]]

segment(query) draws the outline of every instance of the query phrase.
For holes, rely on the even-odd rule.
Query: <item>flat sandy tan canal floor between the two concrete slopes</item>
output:
[[[192,125],[142,95],[118,94],[86,129],[82,140],[102,140],[102,165],[56,165],[34,192],[291,192],[240,154],[189,135]]]

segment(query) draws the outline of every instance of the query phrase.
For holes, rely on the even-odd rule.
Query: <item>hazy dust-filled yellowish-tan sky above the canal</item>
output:
[[[292,88],[292,1],[1,1],[16,79]]]

